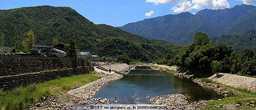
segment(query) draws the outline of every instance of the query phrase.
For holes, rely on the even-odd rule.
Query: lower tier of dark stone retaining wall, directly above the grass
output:
[[[0,77],[0,88],[3,90],[12,90],[18,86],[26,86],[28,84],[51,81],[57,77],[71,77],[72,75],[80,75],[94,71],[94,67],[75,67],[70,69],[61,69],[55,71],[41,71],[37,73],[24,73],[20,75],[11,75]]]

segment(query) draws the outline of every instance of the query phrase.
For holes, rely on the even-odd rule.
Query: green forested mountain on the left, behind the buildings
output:
[[[33,30],[36,45],[53,45],[53,39],[68,43],[74,38],[82,51],[99,56],[127,54],[135,60],[156,60],[175,53],[180,46],[149,40],[105,24],[96,25],[69,7],[22,7],[0,10],[0,35],[5,46],[22,50],[22,41]]]

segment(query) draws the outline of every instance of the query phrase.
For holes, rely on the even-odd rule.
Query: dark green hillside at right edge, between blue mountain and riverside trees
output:
[[[211,38],[211,41],[213,41],[215,45],[220,42],[224,45],[230,45],[235,51],[241,52],[245,48],[255,50],[256,30],[249,30],[242,35],[221,35]]]

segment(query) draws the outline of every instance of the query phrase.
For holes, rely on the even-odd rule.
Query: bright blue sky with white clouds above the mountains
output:
[[[202,9],[225,9],[256,5],[256,0],[0,0],[0,9],[51,5],[71,7],[95,24],[123,26],[146,18]]]

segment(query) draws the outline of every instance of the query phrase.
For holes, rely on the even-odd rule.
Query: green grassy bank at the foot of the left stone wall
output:
[[[96,77],[94,73],[89,73],[30,84],[26,87],[20,86],[11,91],[3,92],[0,90],[0,109],[28,109],[29,105],[42,97],[47,97],[49,94],[58,96],[58,94],[66,93],[72,88],[83,86],[97,79],[100,77]]]

